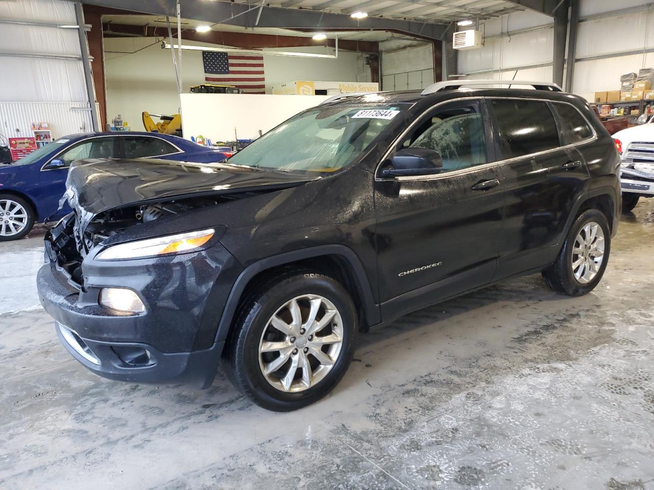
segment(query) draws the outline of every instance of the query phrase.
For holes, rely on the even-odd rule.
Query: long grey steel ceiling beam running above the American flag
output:
[[[175,16],[175,0],[82,0],[88,5],[134,10],[145,14]],[[207,24],[229,24],[254,27],[259,3],[250,6],[244,3],[226,1],[184,0],[182,16],[202,20]],[[264,7],[257,27],[281,27],[286,29],[343,29],[365,28],[377,31],[399,31],[428,39],[442,39],[447,25],[431,22],[417,22],[404,19],[368,17],[356,20],[347,14],[317,12],[307,9]]]

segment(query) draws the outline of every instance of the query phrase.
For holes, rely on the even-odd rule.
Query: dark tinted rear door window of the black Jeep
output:
[[[504,158],[515,158],[558,148],[559,129],[546,102],[492,99]]]

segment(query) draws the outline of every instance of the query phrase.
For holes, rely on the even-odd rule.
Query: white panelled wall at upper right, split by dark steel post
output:
[[[608,18],[593,18],[623,8],[650,5],[649,10]],[[577,37],[577,59],[572,92],[593,99],[596,91],[619,90],[620,76],[641,68],[654,67],[654,54],[614,56],[584,61],[584,57],[629,50],[654,49],[654,6],[647,0],[581,0],[581,20]],[[589,18],[590,17],[590,18]],[[587,19],[588,18],[588,19]],[[521,29],[543,27],[527,33]],[[516,12],[484,22],[485,46],[459,52],[458,73],[466,78],[494,80],[552,80],[553,20],[536,12]],[[541,64],[542,67],[520,68]],[[483,73],[472,74],[475,71]],[[516,73],[517,71],[517,73]]]

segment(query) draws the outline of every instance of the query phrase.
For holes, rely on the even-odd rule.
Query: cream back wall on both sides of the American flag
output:
[[[184,44],[201,45],[192,41]],[[327,54],[320,47],[277,50]],[[264,56],[264,65],[267,92],[273,84],[293,80],[362,81],[357,78],[357,54],[352,52],[341,51],[337,59]],[[182,72],[184,93],[190,86],[205,82],[201,51],[182,51]],[[176,114],[180,110],[171,51],[162,49],[154,38],[105,39],[105,77],[109,120],[121,114],[131,129],[140,131],[144,110],[157,114]],[[225,116],[220,111],[213,114],[215,118]]]

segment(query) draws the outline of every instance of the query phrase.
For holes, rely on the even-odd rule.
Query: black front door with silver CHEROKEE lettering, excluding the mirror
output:
[[[453,115],[467,108],[477,112]],[[460,131],[441,131],[443,127],[448,129],[446,123],[461,123],[466,116],[470,116],[467,131],[465,123]],[[482,125],[479,134],[485,135],[485,142],[473,137],[477,132],[470,128],[477,122]],[[414,130],[410,129],[402,137],[406,138],[402,146],[423,145],[438,150],[443,156],[441,173],[377,178],[379,296],[386,319],[400,310],[420,308],[483,286],[492,278],[498,257],[504,189],[497,166],[486,163],[494,160],[494,150],[492,129],[485,122],[487,113],[481,100],[449,103],[434,109],[415,123],[417,128],[426,128],[425,133],[412,142],[409,135]],[[455,123],[449,129],[456,129],[452,125]],[[453,139],[457,136],[460,142],[455,144]],[[479,154],[480,144],[483,155]],[[450,148],[452,145],[455,150]]]

